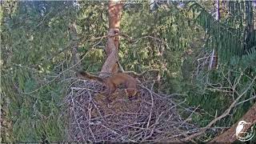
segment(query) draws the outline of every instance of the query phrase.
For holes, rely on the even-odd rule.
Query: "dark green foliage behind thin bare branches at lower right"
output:
[[[229,124],[235,123],[240,119],[243,114],[249,110],[250,106],[254,104],[254,90],[256,82],[253,86],[250,86],[252,78],[255,76],[255,70],[251,70],[250,75],[246,74],[246,69],[241,69],[234,66],[219,66],[218,70],[212,70],[208,72],[208,82],[202,81],[202,78],[206,77],[205,74],[198,75],[197,79],[193,80],[193,83],[187,84],[184,91],[187,93],[186,101],[189,106],[202,108],[201,115],[194,114],[193,122],[198,126],[206,126],[215,116],[223,114],[230,104],[234,102],[234,99],[238,98],[238,94],[242,94],[245,90],[246,94],[239,99],[238,102],[242,102],[238,106],[235,106],[231,110],[231,117],[222,118],[217,122],[217,126],[230,126]],[[235,91],[232,92],[231,86],[235,86]],[[229,123],[229,124],[227,124]]]

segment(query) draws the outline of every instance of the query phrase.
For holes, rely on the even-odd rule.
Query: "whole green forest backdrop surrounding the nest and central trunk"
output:
[[[226,130],[256,99],[255,5],[126,2],[120,26],[126,37],[120,37],[119,62],[124,70],[137,73],[160,70],[154,90],[178,94],[182,106],[197,113],[190,115],[190,122],[199,127],[235,102],[214,124]],[[59,115],[75,77],[72,46],[77,47],[83,70],[101,70],[107,2],[2,1],[0,26],[1,142],[41,142],[43,134],[50,142],[65,140],[66,119]]]

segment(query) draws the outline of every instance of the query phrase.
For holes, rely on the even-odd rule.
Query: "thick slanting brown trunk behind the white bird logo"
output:
[[[254,103],[254,106],[252,106],[239,121],[242,120],[250,122],[250,124],[245,126],[244,131],[248,130],[251,126],[254,125],[254,123],[256,123],[256,103]],[[236,127],[238,126],[238,122],[236,122],[233,126],[231,126],[229,130],[226,130],[223,134],[218,135],[218,137],[214,138],[214,140],[211,142],[234,142],[236,140],[235,132]]]

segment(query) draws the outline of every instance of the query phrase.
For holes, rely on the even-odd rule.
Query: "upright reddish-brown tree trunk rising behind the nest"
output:
[[[119,33],[122,3],[118,2],[118,0],[110,0],[108,9],[109,32],[105,47],[106,61],[102,66],[101,74],[99,74],[100,77],[104,77],[106,74],[118,72],[119,36],[114,34]]]

